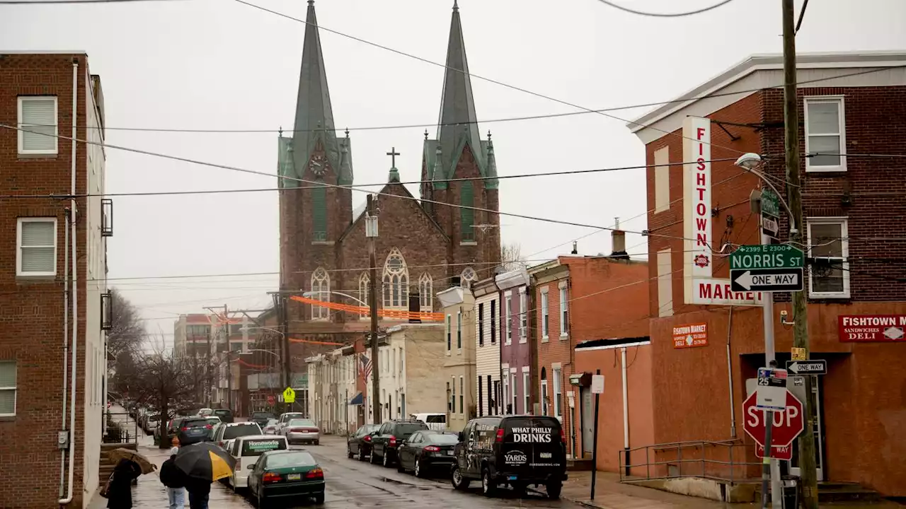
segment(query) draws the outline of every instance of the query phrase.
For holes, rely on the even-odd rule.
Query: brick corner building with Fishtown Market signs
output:
[[[906,448],[896,430],[906,374],[881,367],[906,360],[903,325],[896,323],[906,321],[906,53],[805,53],[797,60],[800,229],[813,258],[805,282],[809,341],[812,358],[828,364],[815,387],[818,475],[903,496]],[[659,165],[647,172],[650,259],[657,261],[650,267],[654,443],[751,443],[741,403],[765,363],[759,295],[724,289],[728,252],[760,244],[748,200],[760,182],[733,162],[744,152],[760,154],[767,178],[786,196],[782,84],[780,55],[753,56],[630,124],[648,163]],[[684,134],[684,121],[700,130]],[[689,153],[697,147],[702,151]],[[884,154],[899,157],[877,157]],[[712,161],[699,171],[704,193],[689,181],[693,168],[684,174],[679,164],[699,155]],[[692,221],[696,206],[705,213]],[[781,242],[787,232],[784,217]],[[789,313],[786,321],[805,317],[792,316],[788,294],[775,297],[783,366],[792,329],[780,312]],[[860,320],[894,323],[872,331],[853,326]],[[696,324],[707,328],[704,341],[692,348],[672,341],[674,328]],[[781,462],[794,474],[796,454],[794,447],[793,461]]]

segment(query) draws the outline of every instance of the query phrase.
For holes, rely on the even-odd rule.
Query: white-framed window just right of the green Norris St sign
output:
[[[846,219],[808,220],[809,255],[814,258],[809,266],[809,296],[832,299],[850,296],[847,235]]]

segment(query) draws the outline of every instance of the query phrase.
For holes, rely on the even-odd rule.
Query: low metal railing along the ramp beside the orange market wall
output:
[[[644,461],[636,460],[640,456]],[[755,444],[739,440],[653,444],[620,451],[620,480],[702,477],[732,484],[759,479],[756,460]]]

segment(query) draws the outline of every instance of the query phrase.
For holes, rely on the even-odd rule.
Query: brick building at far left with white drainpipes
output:
[[[0,53],[19,126],[0,130],[0,195],[41,196],[0,206],[2,507],[83,507],[98,486],[111,204],[83,197],[104,192],[103,149],[57,136],[102,141],[103,104],[85,53]]]

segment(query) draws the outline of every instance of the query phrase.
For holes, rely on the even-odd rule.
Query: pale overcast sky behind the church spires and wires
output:
[[[304,18],[304,0],[252,0]],[[654,12],[717,0],[621,0]],[[323,27],[444,62],[453,0],[319,0]],[[801,0],[797,1],[798,11]],[[736,0],[706,14],[658,19],[595,0],[459,0],[470,71],[588,108],[666,101],[752,53],[779,53],[779,0]],[[902,49],[903,0],[811,2],[799,52]],[[900,25],[898,25],[900,24]],[[276,130],[293,127],[304,24],[228,0],[125,5],[0,6],[0,51],[78,50],[101,75],[111,128]],[[440,107],[443,69],[321,33],[338,128],[352,130],[355,184],[386,181],[390,147],[403,180],[417,180],[424,128]],[[479,120],[572,111],[473,78]],[[623,119],[642,110],[615,111]],[[596,114],[486,122],[501,175],[644,164],[624,122]],[[436,128],[429,128],[434,136]],[[276,171],[275,133],[108,130],[107,143]],[[108,149],[108,192],[275,187],[276,179]],[[646,227],[644,172],[506,179],[502,212],[623,228]],[[375,188],[376,190],[376,188]],[[417,187],[412,192],[418,196]],[[364,200],[353,193],[353,206]],[[203,305],[262,306],[278,270],[275,192],[115,197],[111,285],[139,305],[149,331],[172,333],[180,312]],[[639,216],[641,215],[641,216]],[[625,219],[639,216],[629,222]],[[531,259],[567,253],[592,230],[501,217],[506,243]],[[559,246],[558,246],[559,245]],[[558,247],[556,247],[558,246]],[[628,235],[631,254],[644,254]],[[610,235],[579,241],[582,254],[610,251]],[[541,253],[539,253],[541,252]],[[245,274],[221,278],[152,276]],[[143,278],[143,279],[120,279]]]

